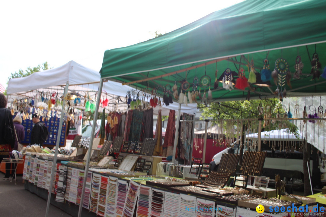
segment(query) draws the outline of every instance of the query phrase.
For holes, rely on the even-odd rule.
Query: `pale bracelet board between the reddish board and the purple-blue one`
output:
[[[109,176],[105,217],[115,217],[118,178]]]

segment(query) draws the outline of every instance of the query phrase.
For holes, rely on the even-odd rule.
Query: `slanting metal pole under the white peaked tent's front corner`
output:
[[[64,107],[66,105],[66,95],[68,93],[68,87],[69,87],[69,84],[67,82],[66,87],[65,87],[65,91],[64,91],[64,98],[63,98],[63,103],[62,103],[62,107],[61,107],[62,108],[61,109],[61,117],[60,117],[60,122],[59,122],[59,129],[58,129],[58,132],[60,132],[60,136],[62,134],[62,125],[63,125],[64,116],[65,116]],[[49,195],[48,195],[48,201],[47,201],[47,204],[46,204],[45,217],[48,217],[48,215],[49,215],[50,200],[51,200],[52,185],[53,185],[53,176],[54,176],[54,173],[56,171],[56,163],[57,163],[57,156],[58,156],[58,151],[59,151],[60,136],[58,135],[57,142],[55,144],[55,152],[54,152],[53,165],[52,165],[52,170],[51,170]]]

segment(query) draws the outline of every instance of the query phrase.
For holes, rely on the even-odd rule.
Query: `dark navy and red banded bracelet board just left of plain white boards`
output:
[[[152,188],[151,217],[163,217],[164,191]]]

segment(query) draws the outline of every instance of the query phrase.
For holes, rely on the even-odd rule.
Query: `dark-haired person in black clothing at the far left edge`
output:
[[[7,107],[7,98],[3,93],[0,93],[0,163],[3,158],[9,158],[9,152],[14,148],[15,140],[8,142],[5,135],[6,119],[9,122],[11,129],[14,129],[14,123],[12,121],[12,115]],[[9,116],[9,118],[8,118]],[[13,132],[14,133],[14,132]],[[6,176],[10,176],[10,163],[6,163]]]

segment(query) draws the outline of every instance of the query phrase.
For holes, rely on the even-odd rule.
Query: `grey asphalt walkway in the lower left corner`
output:
[[[5,176],[0,172],[0,178]],[[45,216],[47,201],[25,190],[22,176],[15,181],[0,181],[0,216]],[[71,217],[66,212],[50,205],[49,217]]]

